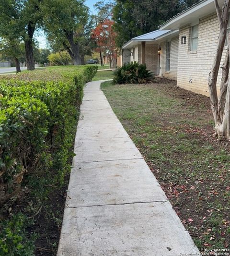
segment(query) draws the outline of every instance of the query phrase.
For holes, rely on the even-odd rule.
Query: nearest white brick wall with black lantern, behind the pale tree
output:
[[[212,67],[219,36],[219,22],[215,13],[199,20],[198,46],[195,53],[189,51],[190,25],[180,28],[178,48],[177,86],[209,96],[207,76]],[[181,45],[180,38],[186,37]],[[225,56],[223,52],[222,62]],[[221,62],[221,63],[222,63]],[[218,90],[221,79],[219,70]],[[189,83],[189,81],[192,81]]]

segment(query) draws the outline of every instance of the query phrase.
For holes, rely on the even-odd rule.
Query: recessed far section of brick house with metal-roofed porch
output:
[[[178,35],[179,30],[156,30],[134,37],[122,47],[123,61],[145,63],[155,75],[176,79]]]

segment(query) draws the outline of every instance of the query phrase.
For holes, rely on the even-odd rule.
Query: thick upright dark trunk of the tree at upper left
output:
[[[29,22],[27,27],[27,38],[25,39],[25,58],[27,70],[34,70],[34,50],[33,50],[33,37],[35,25]]]

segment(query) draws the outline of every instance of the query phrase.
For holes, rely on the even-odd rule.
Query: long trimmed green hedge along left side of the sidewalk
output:
[[[62,181],[83,87],[96,72],[97,66],[46,69],[0,80],[0,207],[31,173],[53,172]]]

